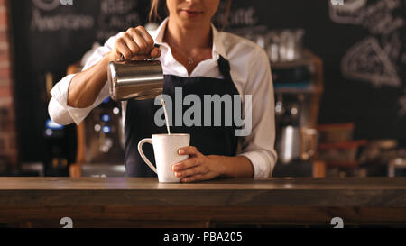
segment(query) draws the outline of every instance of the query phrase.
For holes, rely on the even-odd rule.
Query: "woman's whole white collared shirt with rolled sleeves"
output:
[[[272,74],[266,52],[252,41],[245,40],[231,33],[218,32],[212,25],[213,51],[212,58],[201,61],[189,75],[183,65],[173,58],[171,47],[163,42],[163,35],[168,19],[160,27],[150,32],[161,49],[163,74],[178,77],[215,77],[222,78],[217,60],[221,55],[230,63],[231,77],[242,98],[252,96],[252,132],[240,139],[237,155],[250,159],[254,167],[254,178],[267,178],[272,174],[277,155],[274,150],[275,120]],[[108,39],[104,46],[99,47],[88,59],[83,70],[99,62],[106,53],[114,49],[115,41],[123,32]],[[60,124],[80,123],[90,111],[100,105],[109,96],[109,86],[97,96],[95,103],[87,108],[74,108],[68,105],[69,84],[75,75],[68,75],[60,80],[51,90],[49,114],[51,120]],[[213,92],[215,93],[215,92]],[[244,103],[244,102],[243,102]],[[245,105],[246,106],[246,105]],[[123,103],[125,117],[126,103]],[[243,107],[244,108],[244,107]],[[123,120],[125,122],[125,119]]]

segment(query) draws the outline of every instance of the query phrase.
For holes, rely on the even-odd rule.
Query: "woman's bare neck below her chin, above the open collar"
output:
[[[211,25],[208,23],[193,28],[182,27],[170,18],[164,40],[189,54],[197,50],[208,49],[212,47]]]

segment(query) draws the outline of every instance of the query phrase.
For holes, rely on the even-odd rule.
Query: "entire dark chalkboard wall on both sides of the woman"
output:
[[[45,73],[58,81],[95,41],[147,23],[150,1],[10,3],[20,155],[31,161],[42,157]],[[404,13],[401,0],[233,0],[227,28],[304,29],[305,47],[325,66],[318,122],[355,122],[355,138],[405,140]],[[223,16],[220,8],[218,26]]]

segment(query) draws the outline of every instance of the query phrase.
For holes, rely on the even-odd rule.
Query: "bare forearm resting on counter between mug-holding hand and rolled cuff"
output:
[[[253,178],[254,168],[245,156],[216,156],[220,167],[220,176],[232,178]]]

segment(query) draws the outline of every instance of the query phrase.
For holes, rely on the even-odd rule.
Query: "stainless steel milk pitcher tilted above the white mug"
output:
[[[110,96],[115,101],[153,99],[162,94],[163,71],[159,60],[111,61],[107,74]]]

